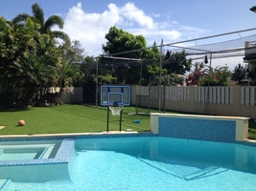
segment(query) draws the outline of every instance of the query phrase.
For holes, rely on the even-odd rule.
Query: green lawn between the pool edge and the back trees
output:
[[[127,129],[139,132],[149,131],[150,117],[128,115],[134,112],[134,107],[124,108],[122,131]],[[139,112],[142,112],[142,109]],[[147,109],[146,112],[148,112]],[[0,118],[0,126],[6,126],[0,130],[0,136],[103,132],[106,131],[107,107],[69,104],[33,107],[0,112]],[[24,126],[18,126],[20,119],[25,120]],[[109,131],[119,131],[119,119],[120,116],[113,117],[109,113]],[[140,120],[141,123],[134,123],[134,120]]]

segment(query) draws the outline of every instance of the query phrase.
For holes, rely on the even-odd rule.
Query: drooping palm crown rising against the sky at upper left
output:
[[[31,18],[35,23],[39,25],[38,32],[40,33],[51,33],[54,37],[62,39],[67,45],[70,45],[69,36],[65,32],[51,31],[54,26],[58,26],[61,30],[63,29],[63,19],[58,15],[50,16],[46,21],[44,20],[44,12],[40,6],[35,3],[32,5],[33,16],[27,13],[20,13],[12,19],[14,24],[24,25],[27,18]]]

